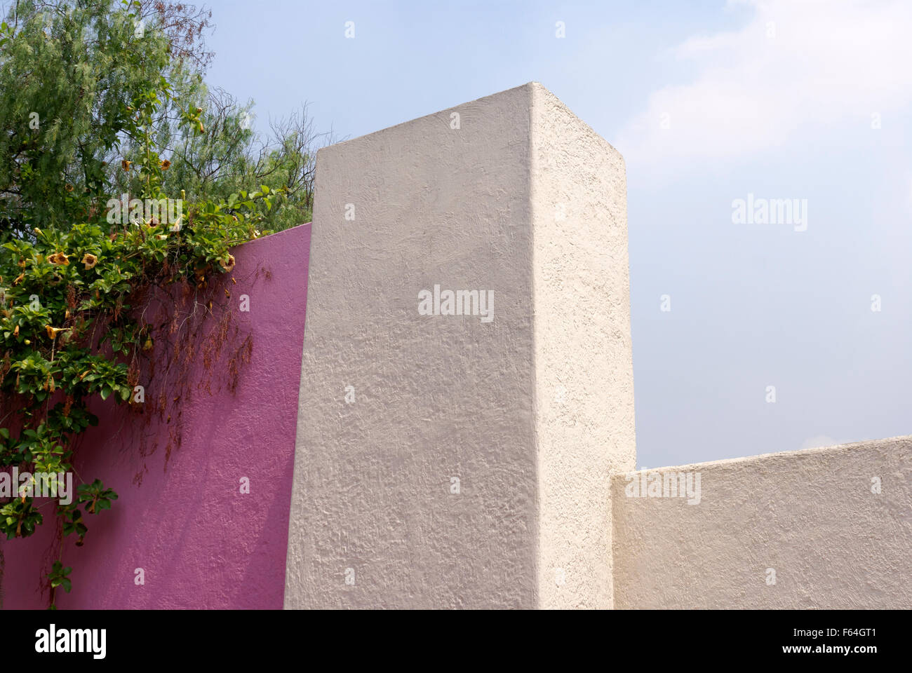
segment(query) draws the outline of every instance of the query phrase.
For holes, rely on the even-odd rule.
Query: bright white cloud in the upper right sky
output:
[[[628,160],[744,156],[815,128],[870,128],[873,113],[896,119],[912,102],[907,0],[747,4],[741,30],[694,36],[665,55],[695,75],[651,94],[621,132]]]

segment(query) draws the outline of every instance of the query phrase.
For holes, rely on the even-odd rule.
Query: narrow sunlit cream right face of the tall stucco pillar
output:
[[[610,474],[636,464],[621,155],[533,85],[542,607],[610,607]]]

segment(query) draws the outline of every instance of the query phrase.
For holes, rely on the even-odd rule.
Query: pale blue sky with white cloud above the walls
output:
[[[912,3],[207,6],[258,129],[538,81],[624,155],[638,468],[912,433]]]

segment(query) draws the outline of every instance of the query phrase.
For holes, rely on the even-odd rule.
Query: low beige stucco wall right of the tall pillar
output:
[[[700,502],[613,478],[616,607],[912,607],[912,437],[662,471]]]

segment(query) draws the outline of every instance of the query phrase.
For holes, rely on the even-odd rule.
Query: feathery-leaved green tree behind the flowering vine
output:
[[[309,222],[316,149],[332,134],[315,132],[305,106],[261,137],[252,103],[210,92],[210,17],[160,0],[10,7],[0,33],[0,229],[66,227],[103,212],[110,194],[140,192],[145,176],[120,161],[135,165],[147,134],[169,162],[165,189],[204,199],[265,184],[278,192],[268,229]],[[169,96],[136,129],[131,103],[160,88]]]

